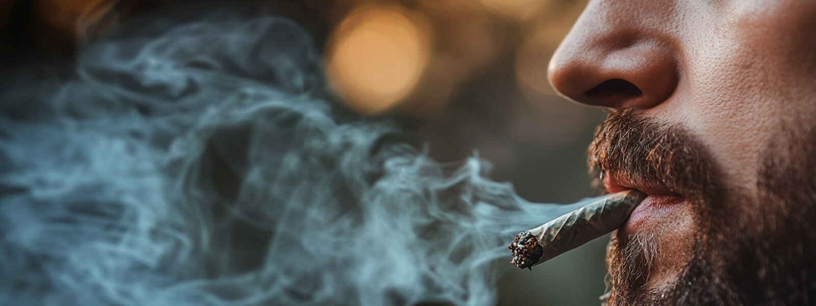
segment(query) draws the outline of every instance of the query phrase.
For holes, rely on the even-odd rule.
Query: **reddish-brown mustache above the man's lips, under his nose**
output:
[[[711,158],[699,141],[682,126],[633,109],[611,111],[596,128],[588,164],[596,186],[601,186],[601,173],[608,172],[636,186],[662,186],[689,199],[710,200],[716,190]]]

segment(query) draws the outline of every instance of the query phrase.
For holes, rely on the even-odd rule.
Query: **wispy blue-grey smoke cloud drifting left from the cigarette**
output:
[[[582,204],[432,161],[331,101],[304,29],[239,17],[3,77],[0,304],[494,304],[513,235]]]

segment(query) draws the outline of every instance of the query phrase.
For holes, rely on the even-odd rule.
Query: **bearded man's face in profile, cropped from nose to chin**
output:
[[[816,2],[595,0],[549,73],[613,109],[605,190],[650,194],[610,242],[611,304],[816,300]]]

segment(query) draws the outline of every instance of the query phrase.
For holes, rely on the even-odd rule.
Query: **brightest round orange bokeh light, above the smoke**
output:
[[[327,50],[330,81],[348,107],[382,113],[416,86],[428,64],[428,29],[399,7],[365,7],[345,18]]]

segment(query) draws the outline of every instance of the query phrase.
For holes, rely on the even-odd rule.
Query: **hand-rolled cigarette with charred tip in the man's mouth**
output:
[[[637,190],[612,193],[596,202],[516,235],[509,248],[511,264],[529,268],[610,233],[628,220],[646,197]]]

